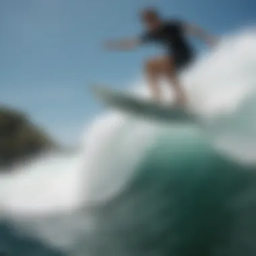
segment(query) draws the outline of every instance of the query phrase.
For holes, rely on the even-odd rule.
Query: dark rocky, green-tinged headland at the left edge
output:
[[[13,164],[61,148],[42,127],[20,110],[0,106],[0,171]]]

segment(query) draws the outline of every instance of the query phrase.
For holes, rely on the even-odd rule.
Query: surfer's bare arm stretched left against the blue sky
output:
[[[121,40],[111,40],[105,42],[104,46],[108,50],[114,51],[125,51],[133,50],[139,46],[140,41],[137,38],[121,39]]]

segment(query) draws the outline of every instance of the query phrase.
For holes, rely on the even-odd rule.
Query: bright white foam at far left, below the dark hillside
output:
[[[44,156],[0,177],[1,208],[10,214],[56,214],[78,207],[81,156]],[[72,172],[71,172],[72,170]]]

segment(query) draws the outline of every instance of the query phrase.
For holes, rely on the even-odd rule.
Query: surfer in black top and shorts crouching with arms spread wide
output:
[[[180,20],[163,20],[154,8],[144,9],[140,13],[146,32],[137,38],[106,42],[107,49],[130,50],[140,44],[158,42],[165,46],[166,56],[146,61],[145,71],[154,100],[160,101],[159,79],[165,77],[176,92],[176,103],[185,104],[186,96],[177,72],[193,61],[195,53],[189,44],[186,34],[197,36],[209,46],[216,42],[214,36],[207,34],[196,25]]]

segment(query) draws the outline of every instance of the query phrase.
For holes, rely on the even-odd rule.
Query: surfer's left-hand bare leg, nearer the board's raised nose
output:
[[[154,100],[160,101],[160,88],[159,88],[159,79],[160,75],[162,75],[161,71],[161,61],[160,59],[150,59],[146,62],[145,71],[148,79],[148,84],[150,86],[150,90],[152,92],[152,96]]]

